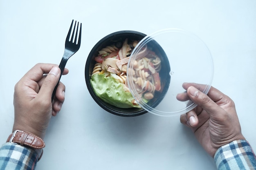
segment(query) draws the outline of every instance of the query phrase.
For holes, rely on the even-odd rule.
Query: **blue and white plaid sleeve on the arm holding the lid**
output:
[[[245,140],[236,140],[220,147],[214,155],[218,170],[256,170],[256,157]]]

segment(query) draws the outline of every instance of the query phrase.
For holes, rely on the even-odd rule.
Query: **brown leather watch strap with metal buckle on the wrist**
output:
[[[7,139],[7,142],[28,146],[34,149],[42,149],[45,147],[43,139],[36,135],[21,130],[15,130]]]

